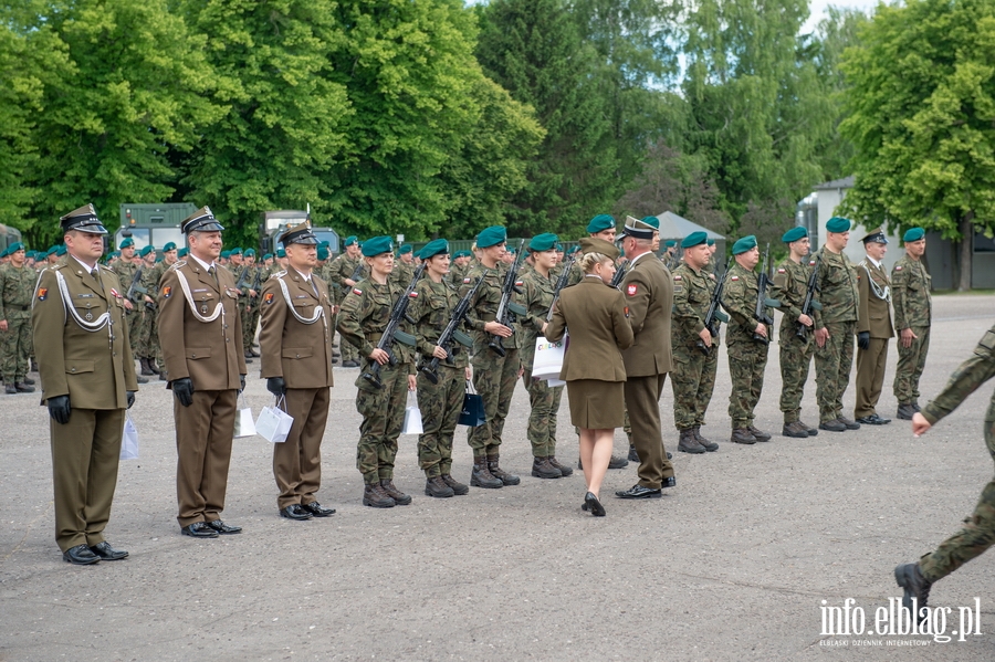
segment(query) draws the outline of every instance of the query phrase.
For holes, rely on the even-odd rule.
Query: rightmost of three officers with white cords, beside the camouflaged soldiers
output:
[[[328,286],[314,272],[317,239],[311,224],[287,228],[280,237],[290,270],[262,286],[259,347],[266,390],[285,397],[294,418],[283,443],[273,444],[273,475],[281,517],[328,517],[334,508],[317,502],[322,486],[322,438],[332,401],[333,304]]]

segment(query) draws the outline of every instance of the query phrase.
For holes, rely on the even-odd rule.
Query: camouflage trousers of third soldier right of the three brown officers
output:
[[[467,441],[474,458],[498,454],[504,419],[511,409],[511,399],[519,379],[519,350],[505,349],[503,357],[485,346],[475,348],[473,356],[473,388],[480,393],[488,422],[470,428]]]

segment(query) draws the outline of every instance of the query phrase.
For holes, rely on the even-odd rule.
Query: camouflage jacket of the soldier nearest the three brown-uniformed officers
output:
[[[356,283],[342,301],[338,333],[343,339],[357,347],[364,358],[368,357],[377,348],[377,343],[390,322],[394,304],[404,293],[404,287],[390,282],[385,285],[367,280]],[[407,323],[402,323],[400,328],[405,333],[411,333]],[[409,364],[408,372],[413,375],[413,347],[395,341],[391,349],[399,364]]]

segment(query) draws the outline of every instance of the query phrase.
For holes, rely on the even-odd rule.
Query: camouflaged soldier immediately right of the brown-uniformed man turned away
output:
[[[712,256],[708,235],[692,232],[683,241],[684,260],[674,269],[673,314],[670,337],[673,351],[673,422],[680,432],[678,450],[701,454],[718,451],[719,444],[701,435],[705,411],[715,389],[715,377],[710,371],[710,362],[718,365],[719,338],[712,337],[704,325],[714,276],[702,269]]]

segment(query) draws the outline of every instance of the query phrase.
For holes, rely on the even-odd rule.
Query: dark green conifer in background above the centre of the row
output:
[[[621,192],[598,55],[564,0],[494,0],[480,9],[484,72],[535,108],[546,129],[528,186],[512,201],[513,234],[575,235]]]

